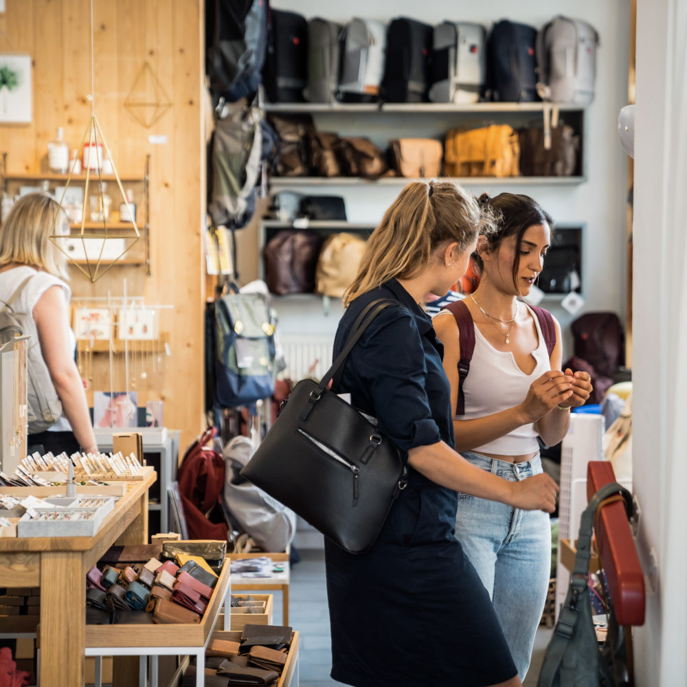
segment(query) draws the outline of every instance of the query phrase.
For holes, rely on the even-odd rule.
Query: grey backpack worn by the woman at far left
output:
[[[0,348],[19,335],[28,337],[26,345],[26,396],[29,433],[35,434],[51,427],[62,415],[62,403],[50,379],[47,365],[38,341],[36,323],[31,313],[17,313],[14,303],[26,284],[34,275],[31,274],[19,286],[7,301],[0,301]]]

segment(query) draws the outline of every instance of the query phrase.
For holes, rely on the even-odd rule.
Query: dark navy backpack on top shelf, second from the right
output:
[[[497,21],[486,50],[491,100],[531,102],[537,95],[537,29],[514,21]]]

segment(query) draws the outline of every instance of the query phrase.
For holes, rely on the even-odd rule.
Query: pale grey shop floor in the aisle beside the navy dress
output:
[[[300,687],[331,687],[340,685],[329,677],[330,638],[327,594],[324,581],[324,552],[299,550],[300,562],[291,567],[289,591],[289,622],[300,632]],[[273,622],[281,622],[281,603],[275,599]],[[540,627],[534,644],[532,666],[523,687],[537,684],[539,666],[551,631]],[[425,687],[420,686],[418,687]],[[460,681],[456,681],[460,687]]]

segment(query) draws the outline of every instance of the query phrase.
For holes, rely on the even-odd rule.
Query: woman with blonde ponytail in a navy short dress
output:
[[[484,225],[476,199],[455,183],[409,183],[372,232],[344,295],[334,357],[368,304],[395,301],[352,348],[338,390],[377,418],[408,474],[370,551],[351,554],[325,539],[339,682],[521,685],[491,600],[453,537],[456,491],[550,512],[557,487],[548,475],[502,480],[453,450],[442,346],[422,306],[426,293],[443,295],[464,273]]]

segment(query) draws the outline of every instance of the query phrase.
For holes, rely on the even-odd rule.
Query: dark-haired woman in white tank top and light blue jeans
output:
[[[479,202],[497,225],[473,254],[480,283],[433,324],[451,382],[455,450],[517,482],[541,473],[537,435],[548,446],[561,441],[571,407],[587,401],[592,384],[586,372],[559,369],[561,329],[552,315],[518,300],[541,272],[552,218],[529,196],[482,194]],[[459,368],[467,365],[461,383]],[[550,517],[461,493],[455,536],[493,600],[524,679],[550,579]]]

